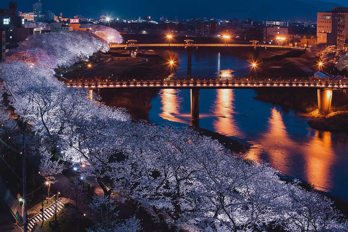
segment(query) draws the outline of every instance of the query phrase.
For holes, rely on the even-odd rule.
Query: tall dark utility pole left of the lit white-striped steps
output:
[[[23,145],[22,145],[22,169],[23,169],[23,232],[28,231],[28,224],[27,224],[27,206],[26,206],[26,179],[25,179],[25,168],[26,168],[26,149],[25,149],[25,133],[26,133],[26,122],[25,119],[23,119]]]

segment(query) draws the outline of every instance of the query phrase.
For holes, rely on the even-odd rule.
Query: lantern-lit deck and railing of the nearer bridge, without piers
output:
[[[70,87],[100,88],[170,88],[170,89],[252,89],[252,88],[315,88],[348,89],[348,80],[313,80],[312,78],[268,78],[248,80],[237,77],[149,77],[117,80],[117,78],[60,79]]]

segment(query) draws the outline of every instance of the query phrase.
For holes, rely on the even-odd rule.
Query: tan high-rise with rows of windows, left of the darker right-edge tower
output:
[[[336,45],[337,43],[337,13],[317,13],[317,39],[318,43]]]

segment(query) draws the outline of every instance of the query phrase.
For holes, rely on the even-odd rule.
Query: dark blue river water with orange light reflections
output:
[[[177,51],[187,76],[187,51]],[[248,75],[250,64],[215,51],[192,53],[191,76]],[[287,178],[306,180],[318,190],[348,200],[348,134],[311,129],[308,117],[253,99],[252,89],[202,89],[199,126],[251,146],[248,158],[271,163]],[[151,101],[153,123],[190,124],[190,90],[163,89]]]

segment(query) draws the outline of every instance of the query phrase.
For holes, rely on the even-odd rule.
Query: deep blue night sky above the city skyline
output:
[[[32,11],[36,1],[18,0],[18,11]],[[56,15],[61,12],[64,17],[83,15],[88,18],[99,18],[101,14],[119,18],[147,17],[158,20],[164,15],[168,18],[177,16],[179,19],[190,17],[207,17],[209,15],[220,19],[239,18],[254,21],[266,19],[290,19],[291,21],[316,21],[317,11],[331,10],[332,7],[347,6],[347,0],[287,0],[287,1],[208,1],[208,0],[132,0],[132,1],[96,1],[42,0],[43,10],[51,10]],[[213,4],[215,3],[215,4]],[[0,8],[8,8],[8,1],[0,1]]]

